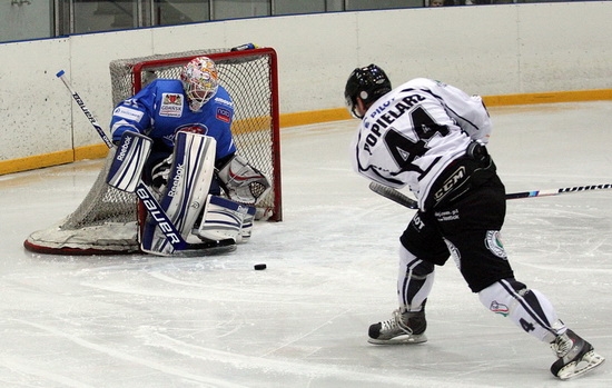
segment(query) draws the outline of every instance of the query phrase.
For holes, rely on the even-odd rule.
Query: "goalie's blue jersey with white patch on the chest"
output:
[[[172,151],[175,135],[180,130],[206,135],[217,140],[216,159],[221,159],[236,152],[230,130],[233,118],[234,103],[221,86],[210,101],[194,112],[179,80],[157,79],[115,108],[110,129],[113,141],[119,141],[125,131],[135,131],[148,136],[156,147],[167,148],[168,152]]]

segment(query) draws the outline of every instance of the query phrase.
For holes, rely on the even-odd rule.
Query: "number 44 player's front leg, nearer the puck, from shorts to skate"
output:
[[[371,344],[421,344],[427,340],[425,304],[434,282],[434,262],[443,265],[448,258],[448,250],[431,216],[423,212],[414,216],[401,241],[397,276],[399,308],[393,311],[389,319],[369,327]]]

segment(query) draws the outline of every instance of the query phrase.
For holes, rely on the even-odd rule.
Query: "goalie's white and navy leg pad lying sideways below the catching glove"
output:
[[[203,240],[246,242],[250,237],[255,208],[233,200],[208,196],[204,217],[195,233]]]

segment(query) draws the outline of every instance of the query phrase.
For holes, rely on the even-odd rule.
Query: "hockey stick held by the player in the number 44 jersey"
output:
[[[408,209],[418,209],[418,205],[414,199],[409,198],[408,196],[406,196],[401,191],[395,190],[392,187],[388,187],[378,182],[369,182],[369,189],[376,192],[377,195],[381,195],[387,199],[391,199],[392,201],[399,203]],[[550,197],[550,196],[559,196],[562,193],[570,193],[570,192],[608,190],[608,189],[612,189],[612,183],[574,186],[574,187],[562,187],[559,189],[510,192],[510,193],[506,193],[506,199]]]

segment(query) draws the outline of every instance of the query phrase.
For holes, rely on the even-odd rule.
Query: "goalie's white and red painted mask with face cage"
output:
[[[217,67],[207,57],[198,57],[189,61],[180,72],[180,80],[187,94],[189,109],[195,112],[217,93],[219,87]]]

